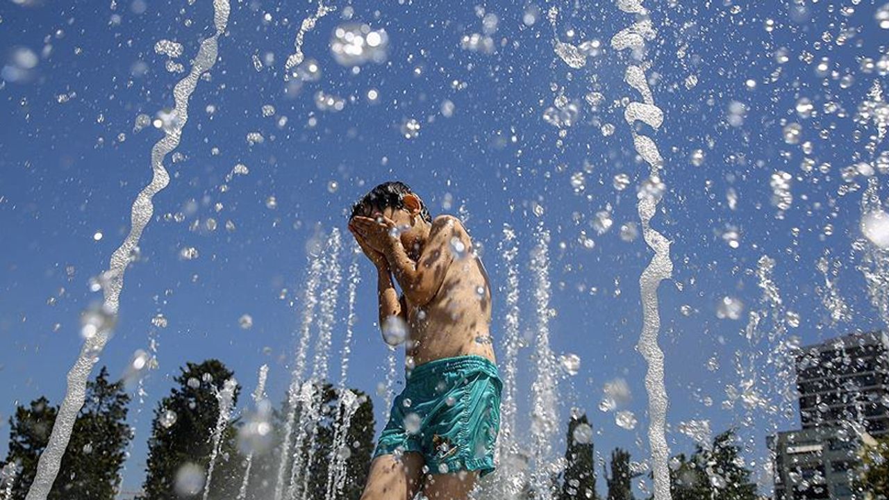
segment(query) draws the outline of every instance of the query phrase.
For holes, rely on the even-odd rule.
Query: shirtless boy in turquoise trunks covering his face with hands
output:
[[[404,391],[361,498],[411,500],[421,490],[430,500],[464,500],[477,477],[493,472],[500,427],[485,268],[461,222],[450,215],[433,221],[403,182],[364,196],[348,229],[377,268],[385,340],[406,334]]]

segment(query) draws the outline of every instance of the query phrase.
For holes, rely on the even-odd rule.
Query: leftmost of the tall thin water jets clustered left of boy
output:
[[[318,284],[321,281],[322,270],[324,270],[324,262],[321,260],[321,255],[312,255],[308,267],[308,278],[306,279],[306,292],[303,296],[300,342],[297,345],[296,360],[291,372],[292,380],[287,390],[287,417],[284,422],[284,441],[281,447],[281,456],[275,482],[275,500],[281,500],[281,497],[284,495],[284,474],[287,472],[287,457],[290,456],[293,421],[296,420],[296,411],[300,405],[302,376],[306,370],[308,341],[311,337],[312,321],[315,318],[315,308],[318,302],[316,294]]]

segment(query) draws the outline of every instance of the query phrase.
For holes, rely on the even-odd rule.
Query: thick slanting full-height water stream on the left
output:
[[[216,63],[218,40],[228,25],[229,12],[228,0],[213,0],[213,24],[216,32],[201,42],[188,76],[182,78],[173,87],[173,98],[176,102],[173,114],[176,119],[172,121],[172,126],[164,128],[164,138],[157,141],[151,149],[151,182],[140,191],[133,201],[130,232],[124,238],[121,246],[117,247],[114,254],[111,254],[108,270],[102,274],[102,293],[104,295],[102,310],[111,317],[117,315],[120,294],[124,289],[126,267],[132,262],[132,256],[139,246],[142,231],[145,230],[148,222],[151,221],[152,214],[154,214],[152,198],[170,182],[170,175],[164,168],[164,158],[179,146],[182,129],[188,122],[188,99],[195,92],[197,80],[206,71],[212,69]],[[108,325],[112,324],[113,321],[108,323]],[[52,424],[52,434],[50,434],[46,449],[37,462],[34,482],[28,489],[26,500],[45,500],[49,495],[52,483],[55,482],[56,475],[59,473],[65,448],[68,448],[68,440],[71,438],[77,414],[84,406],[86,381],[92,372],[92,365],[99,359],[101,351],[108,343],[110,334],[110,327],[101,328],[96,332],[96,335],[87,339],[74,366],[68,371],[68,388],[65,399],[62,400],[59,414],[55,423]]]

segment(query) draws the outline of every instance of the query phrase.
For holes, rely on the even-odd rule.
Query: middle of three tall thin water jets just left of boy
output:
[[[300,414],[300,434],[297,439],[297,456],[293,460],[293,470],[291,477],[296,478],[301,474],[302,486],[300,491],[303,496],[308,494],[308,480],[310,474],[306,473],[312,469],[315,463],[316,441],[318,436],[317,422],[321,418],[321,407],[324,399],[323,383],[327,378],[327,359],[331,349],[331,338],[333,335],[333,327],[336,326],[336,306],[340,295],[340,282],[342,281],[340,271],[340,250],[342,249],[342,240],[340,238],[340,230],[333,228],[331,231],[328,246],[324,252],[324,290],[321,292],[321,307],[318,318],[318,338],[315,344],[315,363],[312,367],[312,383],[314,390],[309,400],[308,408]],[[308,447],[306,461],[302,463],[303,454],[300,453],[300,437],[303,432],[308,432]],[[299,465],[299,468],[297,467]]]

